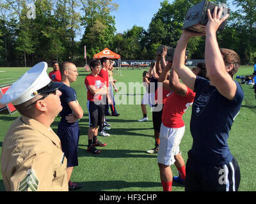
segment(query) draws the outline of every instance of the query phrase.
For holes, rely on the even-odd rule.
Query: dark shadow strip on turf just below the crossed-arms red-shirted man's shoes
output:
[[[80,147],[85,147],[84,149]],[[147,154],[145,150],[128,150],[128,149],[102,149],[100,154],[92,154],[87,152],[87,145],[78,145],[77,155],[78,157],[99,157],[99,158],[127,158],[127,157],[147,157],[147,158],[154,158],[156,154]]]

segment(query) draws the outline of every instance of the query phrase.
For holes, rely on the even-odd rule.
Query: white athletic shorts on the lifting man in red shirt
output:
[[[180,142],[185,133],[185,126],[182,128],[167,128],[163,122],[160,128],[160,143],[157,154],[157,162],[170,166],[175,162],[174,156],[180,152]]]

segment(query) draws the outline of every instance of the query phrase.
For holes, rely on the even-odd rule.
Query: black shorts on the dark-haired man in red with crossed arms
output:
[[[97,128],[98,126],[102,126],[105,117],[104,105],[97,105],[93,101],[88,101],[87,108],[89,113],[90,127]]]

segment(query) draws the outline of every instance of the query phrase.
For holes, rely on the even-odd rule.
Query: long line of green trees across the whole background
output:
[[[159,45],[176,47],[188,9],[200,1],[164,0],[147,30],[134,25],[124,33],[116,33],[111,11],[117,10],[118,4],[112,0],[0,1],[0,66],[32,66],[54,60],[83,66],[84,45],[87,59],[106,47],[122,59],[155,59]],[[236,6],[225,29],[218,33],[220,47],[236,50],[242,64],[253,64],[256,1],[212,2]],[[204,41],[204,37],[189,41],[190,59],[204,58]]]

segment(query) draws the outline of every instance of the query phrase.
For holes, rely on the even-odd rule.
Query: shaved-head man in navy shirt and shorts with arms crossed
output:
[[[70,180],[74,166],[78,166],[77,146],[79,142],[78,119],[83,117],[83,109],[77,101],[76,91],[70,84],[76,82],[78,76],[76,65],[72,62],[63,62],[60,66],[61,82],[61,120],[58,125],[58,136],[61,148],[67,157],[68,189],[78,189],[81,185]]]

